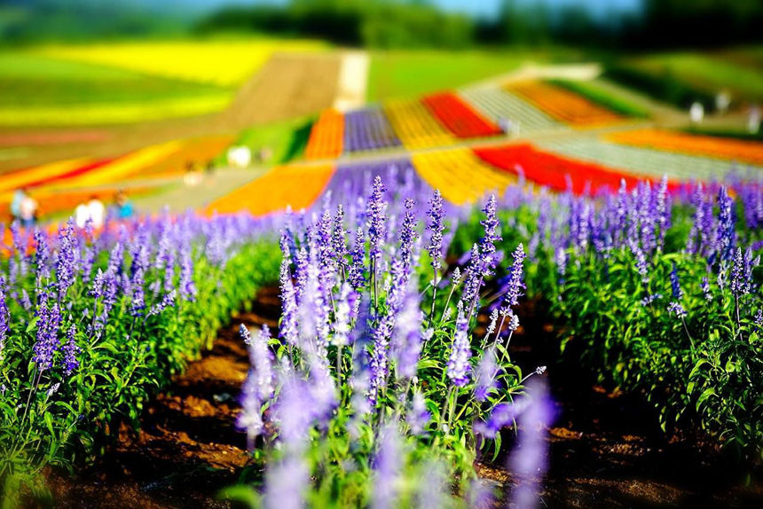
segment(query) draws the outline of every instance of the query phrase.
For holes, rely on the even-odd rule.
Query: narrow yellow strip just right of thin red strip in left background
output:
[[[67,179],[60,187],[88,187],[103,184],[116,184],[126,176],[136,174],[141,168],[147,168],[177,153],[183,146],[182,141],[169,141],[159,145],[150,145],[135,152],[115,159],[102,168]],[[59,187],[59,186],[57,186]]]

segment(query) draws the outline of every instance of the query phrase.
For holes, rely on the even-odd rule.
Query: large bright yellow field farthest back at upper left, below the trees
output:
[[[37,52],[56,59],[232,86],[256,73],[275,51],[317,51],[325,47],[325,43],[310,40],[242,39],[53,45]]]

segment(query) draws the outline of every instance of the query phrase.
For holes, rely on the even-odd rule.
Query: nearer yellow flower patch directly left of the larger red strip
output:
[[[480,200],[489,192],[502,193],[516,178],[480,161],[468,148],[413,154],[411,160],[427,184],[456,205]]]

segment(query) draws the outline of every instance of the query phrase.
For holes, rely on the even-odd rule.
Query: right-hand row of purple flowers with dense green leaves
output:
[[[763,452],[763,183],[734,176],[502,200],[505,249],[526,242],[528,287],[565,356],[646,394],[663,427],[702,427],[746,461]],[[477,229],[464,225],[456,246]]]

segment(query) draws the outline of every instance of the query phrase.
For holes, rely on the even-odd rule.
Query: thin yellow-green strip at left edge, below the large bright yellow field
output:
[[[128,104],[91,104],[0,108],[0,125],[78,126],[154,121],[190,117],[223,110],[231,101],[228,93],[198,98],[173,98]]]

